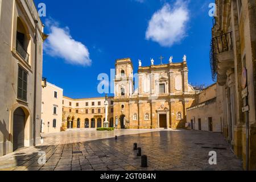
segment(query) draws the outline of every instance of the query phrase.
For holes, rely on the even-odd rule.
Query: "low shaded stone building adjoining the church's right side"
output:
[[[196,104],[187,109],[188,129],[222,133],[223,128],[222,88],[213,84],[201,90]]]

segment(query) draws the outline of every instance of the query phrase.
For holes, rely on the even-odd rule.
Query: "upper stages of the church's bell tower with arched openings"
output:
[[[115,61],[115,97],[130,97],[134,93],[133,63],[130,58]]]

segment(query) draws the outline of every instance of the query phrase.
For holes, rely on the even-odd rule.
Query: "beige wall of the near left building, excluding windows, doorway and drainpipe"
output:
[[[0,99],[2,103],[0,107],[0,156],[13,151],[13,113],[18,107],[22,107],[26,114],[25,146],[32,146],[34,143],[33,120],[35,120],[35,143],[40,143],[43,58],[42,22],[38,18],[34,2],[32,0],[26,2],[20,0],[0,1]],[[24,30],[26,30],[27,53],[30,55],[28,63],[16,51],[18,17],[22,20]],[[38,28],[35,26],[34,19],[38,20]],[[38,34],[37,47],[34,42],[35,32]],[[35,64],[35,49],[37,50],[37,64]],[[19,66],[28,72],[26,102],[17,99]],[[36,92],[34,90],[35,78]],[[36,101],[35,115],[34,101]]]

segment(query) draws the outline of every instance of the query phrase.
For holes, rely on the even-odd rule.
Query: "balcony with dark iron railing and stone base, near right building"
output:
[[[218,84],[225,85],[228,77],[226,71],[234,67],[232,32],[212,39],[210,65],[213,81],[218,81]]]

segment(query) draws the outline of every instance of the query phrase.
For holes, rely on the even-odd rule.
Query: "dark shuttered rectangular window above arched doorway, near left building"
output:
[[[19,67],[18,70],[18,99],[27,101],[27,72]]]

